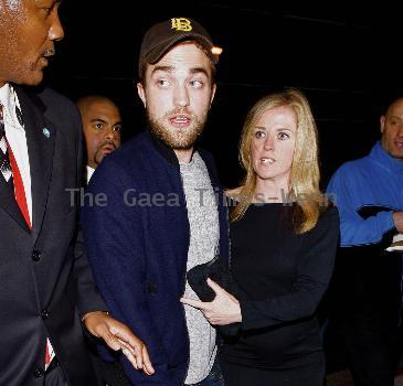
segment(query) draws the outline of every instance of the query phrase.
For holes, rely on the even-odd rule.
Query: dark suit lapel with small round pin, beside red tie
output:
[[[30,159],[32,230],[38,237],[47,202],[56,130],[54,125],[46,120],[45,106],[36,96],[30,98],[19,87],[15,90],[24,120]]]

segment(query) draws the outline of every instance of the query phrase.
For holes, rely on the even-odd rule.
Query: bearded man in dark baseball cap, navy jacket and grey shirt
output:
[[[218,60],[194,20],[151,26],[137,84],[148,128],[109,154],[88,186],[91,195],[108,199],[83,213],[98,288],[147,344],[156,371],[147,377],[123,358],[135,385],[223,386],[215,330],[201,311],[179,301],[197,298],[185,280],[190,268],[216,254],[229,257],[215,165],[195,148],[214,98]]]

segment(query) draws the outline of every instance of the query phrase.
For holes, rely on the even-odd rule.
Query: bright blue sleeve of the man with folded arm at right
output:
[[[350,163],[346,163],[335,173],[327,189],[339,210],[342,247],[377,244],[394,228],[392,211],[382,211],[368,218],[358,213],[364,204],[363,186],[368,184],[362,184],[362,179]]]

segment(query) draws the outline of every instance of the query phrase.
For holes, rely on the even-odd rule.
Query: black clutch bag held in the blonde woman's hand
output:
[[[243,298],[243,292],[234,280],[227,262],[220,256],[212,260],[200,264],[191,268],[187,274],[189,286],[197,293],[201,301],[213,301],[214,291],[209,287],[206,280],[210,278],[215,281],[225,291],[230,292],[236,299]],[[236,335],[241,330],[241,323],[219,325],[218,330],[227,336]]]

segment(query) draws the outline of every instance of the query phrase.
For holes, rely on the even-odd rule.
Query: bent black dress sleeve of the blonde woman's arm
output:
[[[339,238],[336,207],[324,213],[306,237],[293,291],[276,298],[241,301],[243,330],[296,321],[316,312],[333,270]]]

